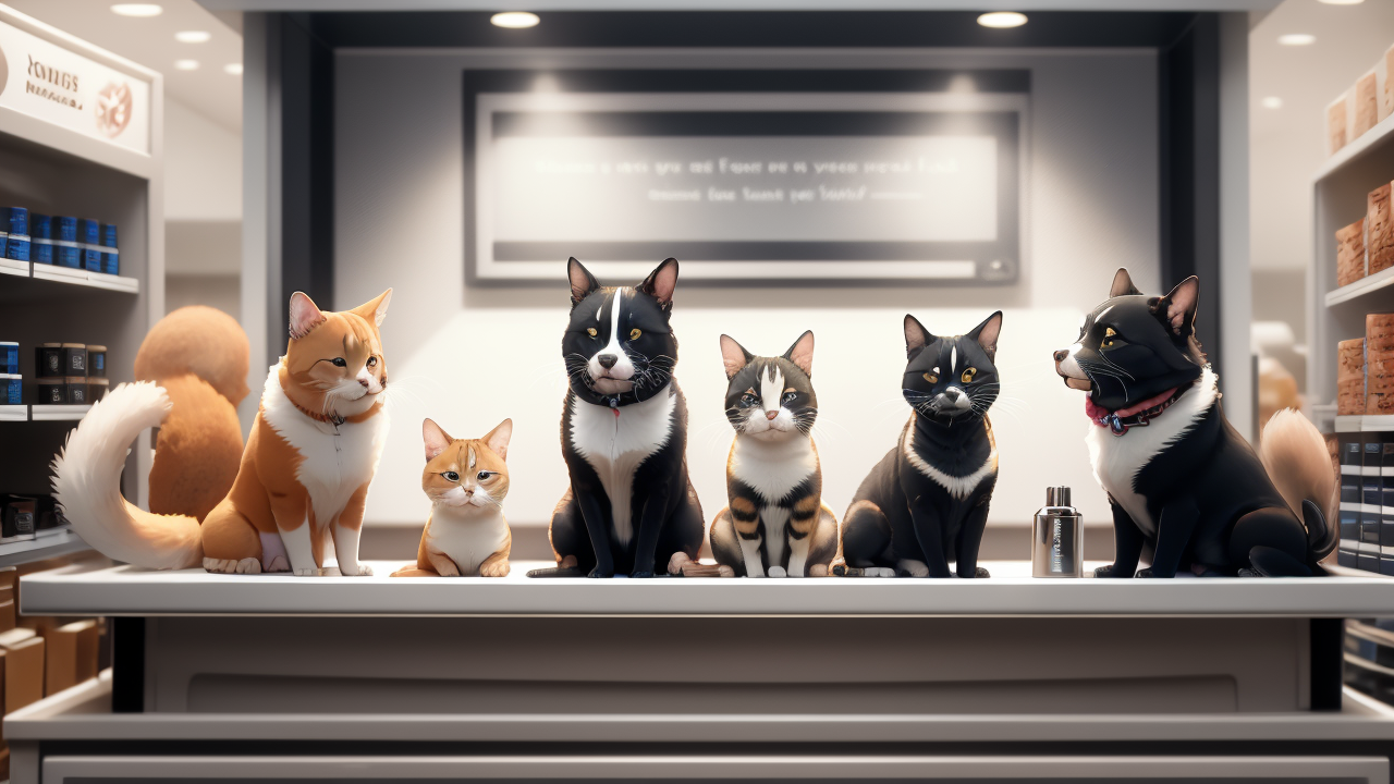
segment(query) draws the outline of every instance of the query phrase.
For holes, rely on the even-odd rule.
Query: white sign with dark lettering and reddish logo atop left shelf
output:
[[[151,151],[151,85],[0,22],[0,106]]]

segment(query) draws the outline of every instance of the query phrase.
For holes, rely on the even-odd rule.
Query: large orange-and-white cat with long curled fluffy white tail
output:
[[[152,515],[120,494],[127,445],[159,425],[169,396],[123,384],[92,406],[54,460],[53,488],[72,527],[103,555],[137,566],[318,575],[333,537],[343,575],[358,564],[368,483],[388,435],[388,365],[378,332],[392,289],[343,312],[290,297],[290,343],[270,367],[231,490],[199,526]]]

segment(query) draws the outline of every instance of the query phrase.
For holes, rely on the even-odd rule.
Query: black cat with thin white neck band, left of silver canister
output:
[[[960,578],[988,576],[977,548],[997,485],[987,410],[998,393],[1001,331],[1001,311],[956,338],[935,338],[905,317],[910,421],[857,488],[842,520],[845,564],[834,573],[948,578],[952,559]]]

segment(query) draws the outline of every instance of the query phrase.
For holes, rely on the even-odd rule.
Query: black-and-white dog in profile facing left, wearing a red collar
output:
[[[1126,269],[1055,352],[1055,371],[1089,392],[1086,437],[1114,512],[1115,559],[1100,578],[1308,576],[1335,547],[1335,476],[1316,427],[1281,412],[1262,455],[1225,420],[1218,378],[1196,340],[1200,283],[1147,297]],[[1303,525],[1305,523],[1305,525]]]

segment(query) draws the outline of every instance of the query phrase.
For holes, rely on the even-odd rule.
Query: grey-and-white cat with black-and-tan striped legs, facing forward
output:
[[[818,417],[813,332],[782,357],[751,356],[722,335],[721,357],[736,439],[726,460],[729,506],[711,523],[711,552],[735,576],[827,576],[838,520],[822,505],[822,470],[809,437]]]

